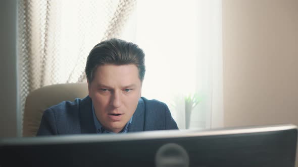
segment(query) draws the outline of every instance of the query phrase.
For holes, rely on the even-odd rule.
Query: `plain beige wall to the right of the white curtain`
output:
[[[298,125],[297,0],[223,0],[223,76],[226,127]]]

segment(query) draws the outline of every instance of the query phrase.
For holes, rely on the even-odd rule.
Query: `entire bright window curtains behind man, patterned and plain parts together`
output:
[[[22,106],[37,88],[84,80],[92,47],[119,37],[146,54],[142,96],[165,102],[184,129],[185,97],[196,95],[190,128],[221,127],[221,0],[135,2],[20,1]]]

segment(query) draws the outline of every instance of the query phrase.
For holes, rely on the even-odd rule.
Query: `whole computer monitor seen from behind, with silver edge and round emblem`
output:
[[[0,166],[293,167],[294,125],[0,140]]]

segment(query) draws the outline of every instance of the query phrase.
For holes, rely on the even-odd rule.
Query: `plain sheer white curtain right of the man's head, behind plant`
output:
[[[189,128],[223,127],[221,1],[138,1],[129,23],[123,38],[146,54],[142,95],[167,103],[180,129],[197,95]]]

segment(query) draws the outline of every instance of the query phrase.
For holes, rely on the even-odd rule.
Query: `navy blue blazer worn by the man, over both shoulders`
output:
[[[91,98],[64,101],[46,109],[37,136],[96,133]],[[128,132],[178,129],[168,106],[157,100],[140,98]]]

